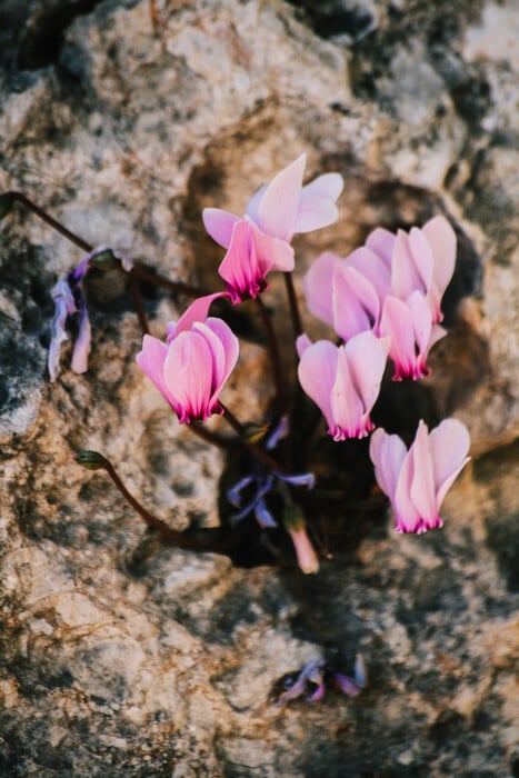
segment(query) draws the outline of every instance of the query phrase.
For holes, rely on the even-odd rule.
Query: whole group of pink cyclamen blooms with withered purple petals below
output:
[[[342,178],[327,173],[303,186],[305,164],[302,154],[261,187],[243,217],[216,208],[203,211],[207,231],[226,249],[219,267],[226,290],[196,300],[177,325],[169,325],[166,343],[146,336],[137,357],[181,422],[203,421],[222,412],[219,395],[238,360],[236,336],[222,320],[208,318],[212,301],[227,297],[238,305],[256,299],[268,288],[271,271],[293,270],[295,233],[326,227],[338,218],[336,200]],[[325,252],[315,261],[305,278],[308,309],[333,329],[339,342],[312,343],[300,335],[298,377],[322,411],[333,440],[372,432],[370,415],[388,359],[393,380],[428,375],[429,351],[446,335],[439,323],[441,299],[455,262],[456,236],[443,217],[409,232],[393,235],[378,228],[348,257]],[[378,483],[392,505],[398,531],[441,527],[442,499],[468,461],[468,431],[453,419],[430,435],[420,421],[409,451],[398,436],[383,429],[373,432],[370,457]],[[311,473],[285,480],[290,478],[308,486]],[[244,480],[259,483],[253,507],[265,521],[263,497],[275,476]],[[268,526],[271,521],[270,517]],[[316,570],[303,525],[289,527],[289,531],[301,567]]]

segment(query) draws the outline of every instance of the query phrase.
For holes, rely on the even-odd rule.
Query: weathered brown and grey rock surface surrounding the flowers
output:
[[[109,456],[181,529],[218,523],[222,455],[138,371],[116,272],[87,285],[89,372],[66,349],[49,383],[50,289],[81,252],[17,206],[0,225],[1,776],[519,776],[518,40],[516,0],[0,1],[0,191],[93,245],[218,288],[201,209],[242,212],[302,151],[346,190],[340,221],[298,239],[301,269],[448,215],[451,332],[420,402],[473,439],[442,531],[396,536],[388,517],[316,577],[150,539],[74,451]],[[144,295],[161,336],[187,301]],[[241,418],[263,371],[250,342],[226,395]],[[358,651],[358,698],[276,704],[287,674],[351,674]]]

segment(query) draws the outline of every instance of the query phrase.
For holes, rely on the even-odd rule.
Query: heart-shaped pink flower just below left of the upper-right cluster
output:
[[[367,331],[346,346],[309,343],[306,336],[298,339],[299,381],[325,415],[329,435],[333,440],[366,437],[373,429],[370,412],[380,391],[388,341]]]

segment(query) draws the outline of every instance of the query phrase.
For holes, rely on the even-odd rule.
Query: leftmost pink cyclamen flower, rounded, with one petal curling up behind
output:
[[[196,319],[220,296],[196,300],[177,325],[168,327],[167,343],[144,335],[136,357],[181,423],[222,412],[218,396],[238,360],[238,338],[221,319]]]

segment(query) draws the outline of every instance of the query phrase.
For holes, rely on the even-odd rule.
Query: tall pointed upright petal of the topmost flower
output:
[[[273,238],[290,242],[293,236],[302,190],[307,154],[281,170],[267,184],[258,205],[258,227]]]

